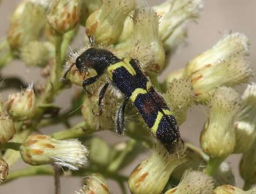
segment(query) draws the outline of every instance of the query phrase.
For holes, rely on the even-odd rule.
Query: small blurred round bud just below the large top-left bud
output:
[[[55,47],[50,42],[30,41],[21,49],[21,58],[26,65],[44,67],[55,56]]]

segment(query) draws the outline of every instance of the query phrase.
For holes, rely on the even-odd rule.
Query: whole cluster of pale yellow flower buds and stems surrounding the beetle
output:
[[[253,70],[245,34],[226,34],[164,82],[157,79],[186,40],[187,22],[197,20],[202,1],[166,0],[151,8],[145,0],[22,0],[0,43],[0,68],[11,60],[21,60],[28,67],[41,68],[45,84],[28,85],[18,78],[3,77],[3,89],[24,89],[0,102],[0,184],[24,176],[49,175],[55,177],[58,194],[60,176],[69,171],[68,176],[85,177],[82,188],[74,191],[78,194],[111,193],[106,179],[114,179],[123,193],[127,193],[127,184],[133,194],[256,193],[256,84],[248,84]],[[68,55],[78,31],[83,32],[82,40],[79,37],[83,46]],[[96,131],[114,131],[122,95],[114,88],[106,91],[101,112],[98,94],[106,75],[83,91],[82,82],[96,72],[80,72],[73,64],[92,46],[120,59],[138,59],[179,126],[186,121],[190,107],[207,108],[200,134],[202,150],[184,140],[177,142],[172,152],[167,151],[151,135],[132,103],[125,110],[127,141],[109,145],[97,137]],[[70,71],[63,83],[59,80],[65,67]],[[233,88],[246,83],[242,95]],[[55,103],[56,96],[73,85],[77,87],[70,109],[63,112]],[[71,126],[74,115],[83,121]],[[129,119],[134,115],[136,121]],[[42,128],[59,123],[65,129],[43,134]],[[129,176],[123,175],[120,170],[146,149],[152,149],[150,157]],[[242,154],[243,190],[235,185],[225,162],[237,153]],[[31,166],[9,170],[19,160]]]

